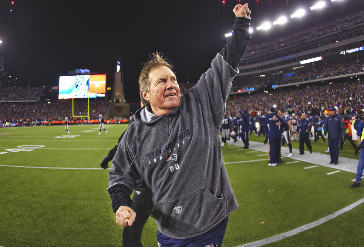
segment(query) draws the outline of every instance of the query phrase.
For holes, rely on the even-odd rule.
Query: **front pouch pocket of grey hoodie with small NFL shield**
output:
[[[209,230],[226,214],[223,194],[215,197],[205,187],[170,202],[154,205],[151,216],[163,234],[181,238]]]

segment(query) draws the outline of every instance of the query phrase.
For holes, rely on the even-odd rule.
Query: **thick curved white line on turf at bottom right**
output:
[[[282,240],[284,238],[287,238],[287,237],[290,237],[290,236],[293,236],[293,235],[296,235],[300,232],[303,232],[303,231],[306,231],[306,230],[309,230],[315,226],[318,226],[322,223],[325,223],[341,214],[344,214],[345,212],[349,211],[349,210],[352,210],[353,208],[355,208],[356,206],[359,206],[361,203],[364,202],[364,198],[360,199],[359,201],[357,202],[354,202],[353,204],[339,210],[339,211],[336,211],[335,213],[333,214],[330,214],[328,216],[325,216],[324,218],[321,218],[321,219],[318,219],[312,223],[309,223],[309,224],[306,224],[304,226],[300,226],[300,227],[297,227],[291,231],[288,231],[288,232],[284,232],[284,233],[281,233],[281,234],[278,234],[278,235],[275,235],[275,236],[272,236],[272,237],[269,237],[269,238],[265,238],[265,239],[262,239],[262,240],[258,240],[258,241],[255,241],[255,242],[251,242],[251,243],[247,243],[247,244],[242,244],[242,245],[238,245],[236,247],[259,247],[259,246],[263,246],[265,244],[270,244],[270,243],[273,243],[273,242],[276,242],[278,240]]]

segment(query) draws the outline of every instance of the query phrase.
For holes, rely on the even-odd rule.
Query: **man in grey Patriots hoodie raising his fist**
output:
[[[226,100],[250,40],[248,4],[237,4],[234,13],[233,35],[183,96],[158,53],[144,64],[139,86],[145,107],[135,113],[112,159],[107,191],[116,223],[133,224],[130,194],[140,175],[153,191],[151,216],[161,247],[221,246],[228,215],[238,207],[219,140]]]

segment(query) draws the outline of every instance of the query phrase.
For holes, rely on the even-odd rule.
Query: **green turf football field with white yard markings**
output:
[[[107,135],[97,135],[98,125],[71,125],[70,134],[64,126],[0,129],[1,247],[121,246],[122,227],[106,192],[108,170],[99,163],[127,125],[105,127]],[[264,138],[251,135],[250,140]],[[287,163],[294,157],[270,167],[266,153],[236,144],[222,147],[240,205],[229,216],[223,246],[364,246],[364,187],[349,188],[355,173],[327,175],[337,169]],[[327,142],[312,146],[324,154]],[[340,157],[357,160],[359,155],[347,143]],[[149,218],[143,246],[158,246],[156,232]],[[282,234],[289,236],[281,239]],[[273,236],[281,240],[274,242]],[[259,240],[264,241],[252,243]]]

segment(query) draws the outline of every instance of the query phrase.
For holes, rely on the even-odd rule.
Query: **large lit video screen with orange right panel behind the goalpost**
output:
[[[60,76],[58,99],[105,97],[106,74]]]

